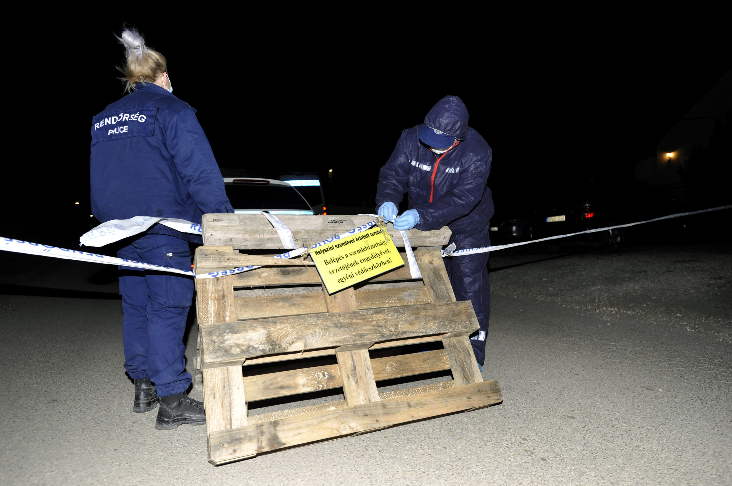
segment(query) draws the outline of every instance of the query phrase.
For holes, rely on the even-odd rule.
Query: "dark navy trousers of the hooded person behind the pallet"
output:
[[[453,240],[450,240],[453,243]],[[490,246],[488,228],[477,235],[455,240],[458,250]],[[473,303],[475,315],[480,328],[470,337],[475,359],[482,366],[485,363],[485,338],[488,335],[488,320],[490,319],[490,281],[488,281],[488,255],[478,253],[464,257],[447,257],[444,259],[447,276],[452,284],[455,298],[470,300]]]

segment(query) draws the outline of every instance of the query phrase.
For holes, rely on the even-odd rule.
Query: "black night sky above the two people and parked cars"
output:
[[[168,58],[174,94],[198,110],[220,167],[263,176],[333,169],[338,190],[330,203],[342,205],[375,193],[401,130],[421,124],[447,94],[466,102],[471,126],[493,148],[488,183],[498,210],[501,191],[516,186],[632,179],[633,164],[654,153],[657,140],[732,66],[728,46],[713,37],[648,41],[627,32],[527,29],[436,48],[434,39],[386,37],[388,28],[253,31],[251,23],[242,29],[219,18],[185,29],[106,16],[78,26],[83,48],[45,50],[42,62],[28,65],[24,86],[36,96],[15,91],[10,99],[22,105],[22,123],[8,139],[17,162],[10,175],[33,181],[28,190],[9,189],[19,209],[53,207],[59,215],[78,212],[72,219],[81,226],[96,224],[89,218],[89,124],[123,95],[114,68],[123,51],[113,32],[125,21]],[[53,44],[56,32],[37,29],[34,42]]]

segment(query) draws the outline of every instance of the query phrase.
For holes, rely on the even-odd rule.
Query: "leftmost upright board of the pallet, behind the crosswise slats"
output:
[[[227,248],[228,251],[233,249]],[[198,292],[198,333],[220,319],[236,319],[234,287],[231,276],[196,279]],[[203,338],[201,337],[203,343]],[[206,360],[206,346],[201,346],[201,365]],[[206,408],[206,429],[209,435],[217,430],[239,427],[247,423],[242,365],[203,370],[203,400]]]

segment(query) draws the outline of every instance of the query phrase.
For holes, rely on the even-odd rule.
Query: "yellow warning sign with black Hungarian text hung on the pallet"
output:
[[[404,265],[389,234],[374,227],[310,250],[329,294]]]

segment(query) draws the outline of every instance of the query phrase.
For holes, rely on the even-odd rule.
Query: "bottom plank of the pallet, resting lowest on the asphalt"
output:
[[[498,382],[484,381],[344,409],[252,423],[212,433],[209,436],[209,462],[230,462],[285,447],[490,406],[501,400],[503,396]]]

